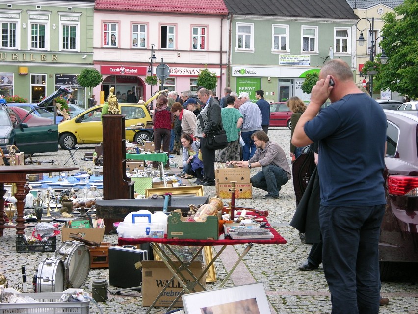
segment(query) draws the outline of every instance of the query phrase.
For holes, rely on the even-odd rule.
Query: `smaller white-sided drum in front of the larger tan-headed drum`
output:
[[[62,292],[65,289],[64,263],[61,259],[45,258],[38,267],[38,292]]]

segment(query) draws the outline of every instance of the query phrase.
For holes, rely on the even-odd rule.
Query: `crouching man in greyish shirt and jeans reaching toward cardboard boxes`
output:
[[[264,131],[256,131],[251,139],[256,145],[256,152],[248,161],[230,161],[229,164],[238,165],[239,168],[261,167],[251,178],[253,187],[267,191],[264,199],[278,199],[282,185],[292,177],[285,151],[276,142],[270,142]]]

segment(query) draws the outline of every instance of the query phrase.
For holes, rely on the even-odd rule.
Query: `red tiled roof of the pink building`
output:
[[[96,0],[95,9],[185,14],[227,15],[222,0]]]

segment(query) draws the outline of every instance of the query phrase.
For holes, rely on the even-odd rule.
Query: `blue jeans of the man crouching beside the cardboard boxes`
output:
[[[288,180],[287,172],[276,165],[263,166],[261,171],[250,179],[253,187],[267,191],[272,196],[279,195],[281,185],[285,185]]]

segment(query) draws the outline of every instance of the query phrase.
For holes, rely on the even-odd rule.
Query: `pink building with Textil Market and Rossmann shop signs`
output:
[[[138,100],[161,88],[196,90],[205,66],[218,77],[218,92],[226,86],[228,12],[221,0],[210,1],[210,7],[202,0],[193,6],[167,0],[158,6],[144,0],[107,2],[96,0],[94,14],[94,66],[104,79],[94,93],[101,94],[101,102],[112,86],[121,102],[128,90]],[[146,84],[145,77],[155,75],[162,62],[169,67],[168,77],[158,86]]]

